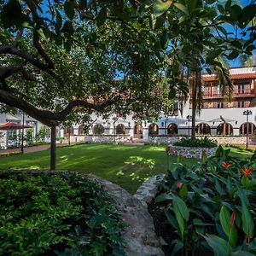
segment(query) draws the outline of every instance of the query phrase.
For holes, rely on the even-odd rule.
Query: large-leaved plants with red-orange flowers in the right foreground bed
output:
[[[255,255],[256,153],[246,160],[229,154],[220,146],[195,166],[170,166],[155,201],[166,202],[173,254]]]

